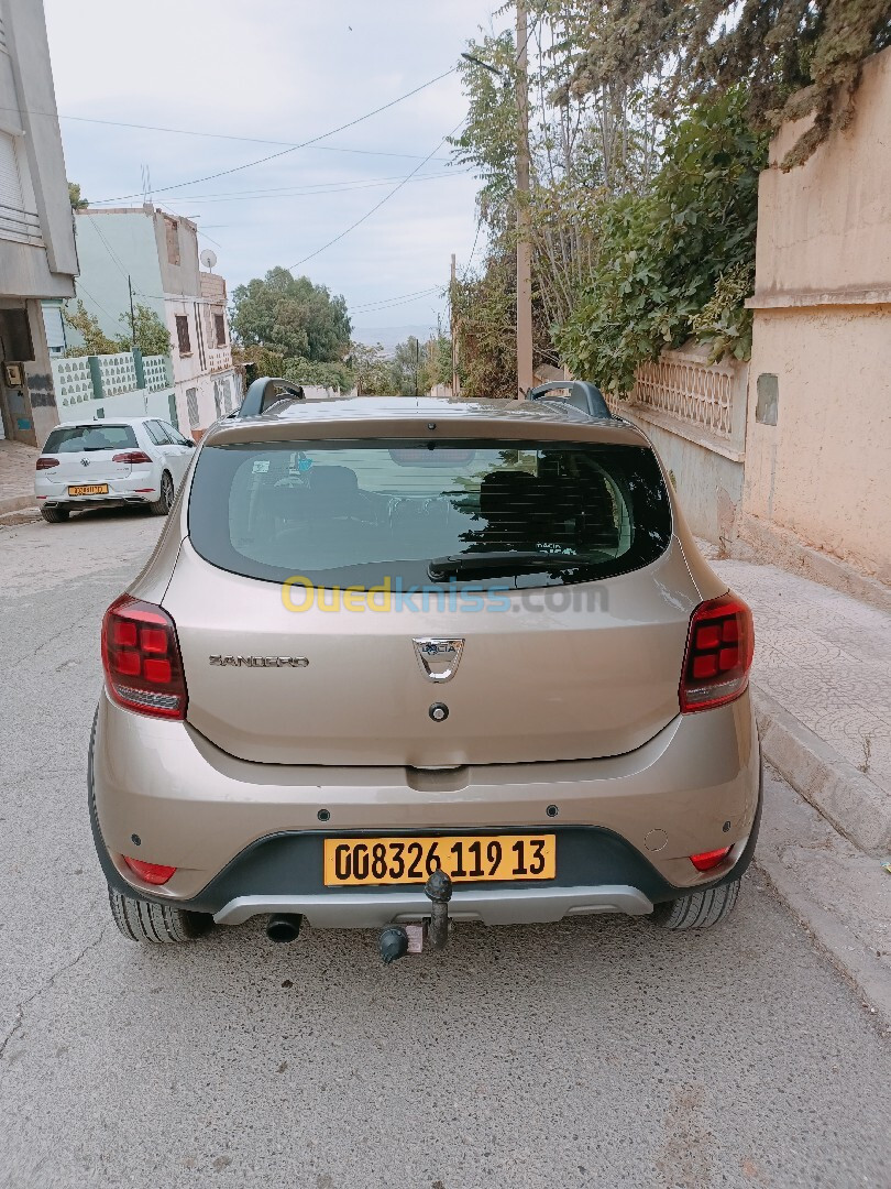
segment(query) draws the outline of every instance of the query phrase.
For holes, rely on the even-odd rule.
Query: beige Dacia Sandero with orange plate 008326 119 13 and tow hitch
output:
[[[748,608],[588,384],[311,402],[257,380],[102,628],[114,919],[714,925],[760,817]]]

